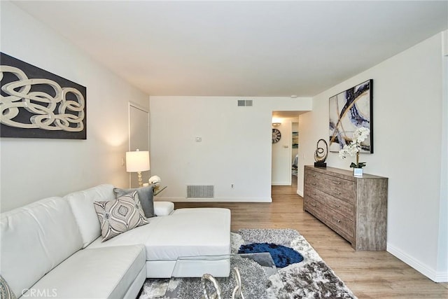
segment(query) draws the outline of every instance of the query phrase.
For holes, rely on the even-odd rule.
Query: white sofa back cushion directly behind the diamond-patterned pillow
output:
[[[92,243],[101,235],[97,213],[93,202],[113,200],[113,185],[103,184],[82,191],[77,191],[64,196],[68,200],[78,223],[81,237],[83,237],[83,248]]]

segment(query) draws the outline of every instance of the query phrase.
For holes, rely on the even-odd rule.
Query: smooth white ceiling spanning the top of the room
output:
[[[311,97],[448,28],[448,1],[14,3],[148,95]]]

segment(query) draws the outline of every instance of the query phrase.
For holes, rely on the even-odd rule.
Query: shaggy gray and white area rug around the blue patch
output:
[[[255,288],[254,293],[245,294],[246,299],[356,298],[297,230],[244,229],[232,232],[232,253],[237,253],[241,244],[255,242],[288,246],[300,252],[304,260],[279,268],[279,275],[275,277],[260,277],[260,274],[249,275],[248,273],[255,273],[257,269],[252,265],[238,265],[241,269],[241,277],[246,276],[249,281],[253,279],[258,281],[256,284],[263,286],[261,289]],[[246,272],[246,275],[243,272]],[[277,279],[281,279],[281,283],[276,281]],[[267,282],[261,284],[260,281]],[[140,299],[164,298],[168,282],[169,279],[146,279]],[[188,279],[182,283],[185,285],[186,293],[188,290],[189,294],[198,292],[198,295],[181,295],[179,299],[200,299],[200,291],[193,290],[197,286],[190,285]],[[253,284],[253,282],[249,283]],[[231,288],[228,287],[228,289]],[[230,297],[227,295],[223,298]]]

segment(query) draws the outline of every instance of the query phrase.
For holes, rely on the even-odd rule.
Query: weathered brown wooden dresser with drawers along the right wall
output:
[[[303,209],[355,250],[386,250],[387,183],[382,176],[333,167],[304,167]]]

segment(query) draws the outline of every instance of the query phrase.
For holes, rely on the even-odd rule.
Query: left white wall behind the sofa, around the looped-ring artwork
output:
[[[0,139],[1,211],[99,183],[128,186],[127,103],[148,107],[148,96],[4,1],[1,52],[87,87],[87,140]]]

